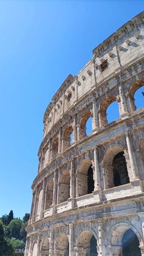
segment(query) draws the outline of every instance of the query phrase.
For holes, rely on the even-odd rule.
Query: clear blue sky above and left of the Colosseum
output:
[[[31,210],[43,114],[92,49],[142,12],[143,1],[0,1],[0,216]]]

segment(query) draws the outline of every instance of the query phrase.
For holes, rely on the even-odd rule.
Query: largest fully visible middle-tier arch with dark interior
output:
[[[126,152],[126,150],[124,151]],[[123,148],[115,145],[104,153],[104,185],[106,189],[129,183],[124,151]]]

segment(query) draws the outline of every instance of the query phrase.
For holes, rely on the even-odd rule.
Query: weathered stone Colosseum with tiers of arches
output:
[[[25,256],[144,255],[144,108],[134,100],[143,38],[144,12],[93,49],[49,103]],[[119,117],[108,122],[114,101]]]

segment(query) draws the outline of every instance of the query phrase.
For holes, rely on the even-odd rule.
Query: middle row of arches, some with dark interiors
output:
[[[138,177],[142,180],[144,178],[143,148],[144,141],[142,140],[139,145],[139,159],[137,159],[139,163],[140,161],[142,163],[140,173],[138,174]],[[57,171],[56,180],[50,177],[48,181],[46,181],[45,193],[43,193],[43,188],[41,186],[41,188],[38,190],[37,211],[35,212],[35,215],[40,214],[41,202],[43,200],[43,211],[45,211],[48,210],[52,204],[59,205],[59,203],[66,202],[70,197],[77,198],[91,194],[93,191],[95,191],[95,164],[93,155],[91,153],[90,155],[91,158],[87,156],[81,161],[79,158],[77,158],[77,162],[75,162],[73,167],[73,172],[71,172],[70,169],[62,169],[59,170],[59,172]],[[96,172],[99,175],[99,187],[102,190],[126,185],[134,178],[129,159],[129,152],[126,145],[123,148],[118,144],[107,148],[103,155],[103,164],[98,164],[98,168],[99,169],[96,169]],[[73,175],[73,177],[71,175]],[[55,192],[54,184],[56,184]],[[71,189],[72,186],[73,189]],[[71,194],[71,191],[74,192]]]

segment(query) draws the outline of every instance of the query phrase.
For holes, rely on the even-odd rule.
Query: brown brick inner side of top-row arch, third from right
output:
[[[83,137],[85,137],[87,135],[87,121],[88,119],[92,117],[92,113],[90,111],[85,112],[80,121],[79,121],[79,139],[82,139]]]

